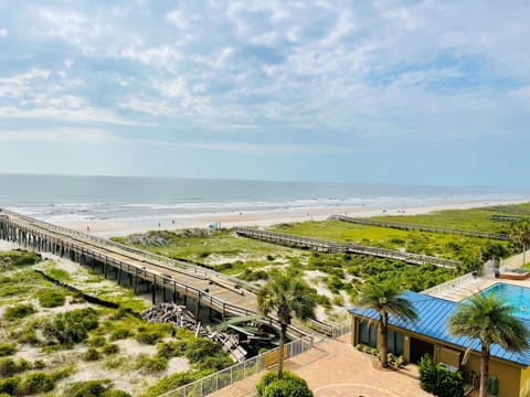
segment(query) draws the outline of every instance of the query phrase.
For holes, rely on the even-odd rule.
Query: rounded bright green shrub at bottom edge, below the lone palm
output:
[[[256,396],[258,397],[312,397],[312,391],[307,382],[298,375],[284,372],[282,379],[275,372],[262,376],[256,384]]]

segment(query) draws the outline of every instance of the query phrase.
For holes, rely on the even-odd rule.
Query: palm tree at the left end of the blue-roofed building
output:
[[[414,305],[403,297],[402,290],[390,281],[367,282],[360,291],[357,304],[360,308],[373,309],[379,313],[379,340],[381,341],[381,365],[388,367],[389,351],[389,314],[403,320],[417,320]]]

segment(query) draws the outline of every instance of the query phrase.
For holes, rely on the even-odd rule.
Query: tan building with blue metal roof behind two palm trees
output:
[[[389,353],[417,363],[428,354],[449,369],[460,369],[465,379],[478,386],[480,341],[456,337],[448,332],[451,315],[458,303],[423,293],[405,291],[403,298],[414,304],[417,320],[389,316]],[[378,348],[379,313],[371,309],[348,310],[352,315],[352,344]],[[530,321],[521,319],[530,330]],[[468,354],[466,354],[468,351]],[[499,397],[530,397],[530,352],[512,353],[491,346],[490,393]]]

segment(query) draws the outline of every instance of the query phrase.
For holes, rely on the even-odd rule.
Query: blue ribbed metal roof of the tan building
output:
[[[478,339],[469,340],[466,336],[453,336],[448,331],[449,316],[456,311],[458,303],[412,291],[403,292],[402,297],[407,299],[416,309],[417,321],[403,321],[390,315],[389,323],[391,325],[480,352],[480,341]],[[372,309],[352,308],[348,311],[368,319],[379,320],[379,313]],[[530,321],[520,320],[530,330]],[[530,351],[528,350],[521,353],[512,353],[494,344],[491,345],[491,355],[524,366],[530,365]]]

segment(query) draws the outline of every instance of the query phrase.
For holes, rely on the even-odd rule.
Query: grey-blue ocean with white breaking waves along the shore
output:
[[[500,200],[530,201],[530,189],[0,174],[0,207],[49,222]]]

